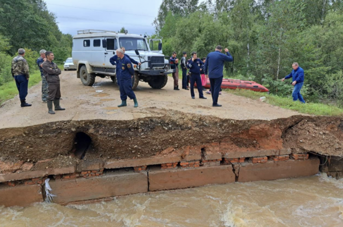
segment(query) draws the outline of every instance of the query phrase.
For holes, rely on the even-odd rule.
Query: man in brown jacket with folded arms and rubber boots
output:
[[[55,110],[65,110],[60,106],[61,90],[60,90],[60,77],[61,70],[57,64],[52,62],[55,58],[54,53],[47,51],[45,53],[46,61],[42,64],[43,74],[48,82],[48,113],[55,114],[52,110],[52,103],[55,105]]]

